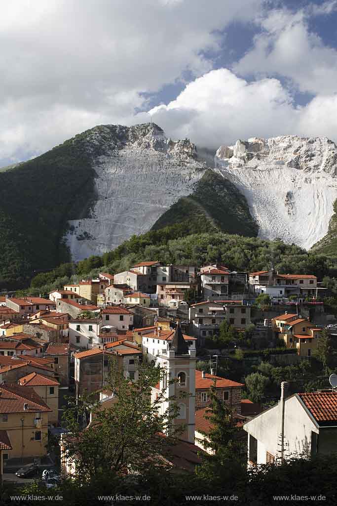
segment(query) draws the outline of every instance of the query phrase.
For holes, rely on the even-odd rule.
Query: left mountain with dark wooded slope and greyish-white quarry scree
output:
[[[150,230],[190,194],[188,216],[198,202],[215,228],[229,231],[239,220],[232,212],[232,225],[226,227],[216,217],[216,206],[203,203],[203,191],[223,215],[237,200],[238,217],[251,221],[245,198],[208,170],[196,146],[187,139],[172,141],[154,123],[96,126],[6,169],[0,173],[0,285],[6,288],[62,262],[114,249]],[[230,192],[235,198],[229,198]],[[194,225],[195,232],[204,230],[205,221],[195,218]],[[251,225],[243,224],[244,234]],[[173,230],[185,233],[190,226]]]

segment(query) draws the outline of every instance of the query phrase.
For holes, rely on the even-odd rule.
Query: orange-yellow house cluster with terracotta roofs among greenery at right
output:
[[[322,329],[296,314],[283,314],[273,318],[272,328],[287,348],[296,348],[300,357],[310,357],[317,348]]]

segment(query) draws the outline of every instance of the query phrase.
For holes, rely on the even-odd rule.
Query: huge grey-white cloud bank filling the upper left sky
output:
[[[0,17],[0,159],[97,123],[133,122],[141,92],[212,68],[218,30],[262,0],[13,0]]]

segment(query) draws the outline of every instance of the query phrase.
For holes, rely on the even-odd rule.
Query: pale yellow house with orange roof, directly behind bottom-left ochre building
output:
[[[19,379],[19,385],[34,389],[41,399],[52,409],[49,423],[56,425],[59,417],[59,387],[60,383],[55,379],[44,376],[37,372],[31,372]]]

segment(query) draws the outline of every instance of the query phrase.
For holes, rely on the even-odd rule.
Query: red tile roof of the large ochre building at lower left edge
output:
[[[26,409],[25,409],[26,406]],[[50,412],[36,392],[21,385],[0,386],[0,413]]]

